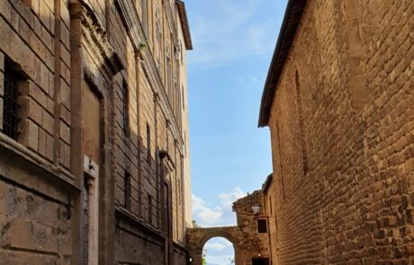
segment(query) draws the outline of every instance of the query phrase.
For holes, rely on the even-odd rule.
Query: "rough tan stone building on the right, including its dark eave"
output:
[[[412,1],[288,1],[259,126],[275,264],[414,262]]]

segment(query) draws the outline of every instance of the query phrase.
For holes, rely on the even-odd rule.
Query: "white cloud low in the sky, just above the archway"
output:
[[[234,225],[235,218],[232,212],[232,204],[237,199],[245,197],[246,193],[240,187],[234,188],[229,193],[221,193],[220,206],[211,207],[202,198],[192,194],[193,217],[198,225]]]

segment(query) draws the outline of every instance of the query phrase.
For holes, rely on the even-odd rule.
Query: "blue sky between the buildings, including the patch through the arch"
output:
[[[234,200],[272,172],[268,128],[257,128],[261,93],[286,0],[186,1],[193,219],[235,225]],[[211,264],[228,264],[231,244],[206,244]],[[210,258],[210,260],[209,260]],[[227,260],[227,261],[226,261]]]

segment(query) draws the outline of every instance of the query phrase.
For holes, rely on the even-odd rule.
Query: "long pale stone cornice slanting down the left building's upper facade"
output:
[[[184,140],[176,123],[175,114],[171,104],[169,103],[166,89],[162,83],[161,76],[159,75],[156,62],[151,51],[144,45],[147,43],[147,39],[139,21],[137,10],[130,0],[116,0],[115,4],[120,11],[121,19],[125,23],[125,28],[128,29],[132,46],[136,52],[139,53],[140,57],[143,58],[141,64],[144,66],[144,72],[147,75],[153,92],[157,93],[159,96],[159,106],[166,115],[166,119],[172,120],[171,131],[180,145],[184,146]]]

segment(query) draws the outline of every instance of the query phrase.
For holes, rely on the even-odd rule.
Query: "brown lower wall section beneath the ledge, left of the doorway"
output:
[[[0,163],[2,264],[70,264],[72,234],[67,193],[40,176],[13,168],[16,165],[10,160],[2,157]],[[24,181],[16,183],[9,178]]]

